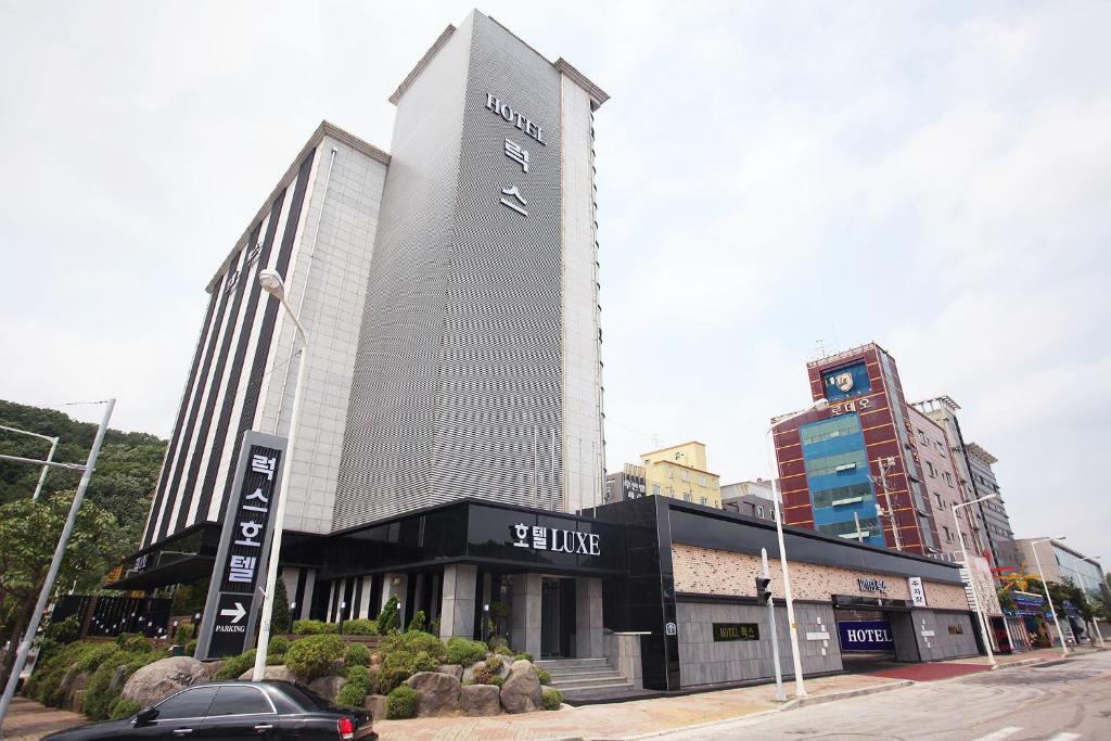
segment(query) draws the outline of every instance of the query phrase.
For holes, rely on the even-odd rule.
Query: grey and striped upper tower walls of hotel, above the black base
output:
[[[312,342],[287,530],[463,497],[600,504],[593,111],[605,99],[474,11],[391,98],[390,154],[321,124],[208,286],[143,547],[221,520],[246,430],[288,434],[294,329],[260,290],[263,267],[284,277]],[[527,173],[507,140],[529,151]],[[500,202],[511,186],[527,217]]]

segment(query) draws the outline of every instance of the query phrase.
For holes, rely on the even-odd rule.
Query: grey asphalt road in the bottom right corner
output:
[[[657,738],[1107,741],[1111,740],[1111,651],[921,683]]]

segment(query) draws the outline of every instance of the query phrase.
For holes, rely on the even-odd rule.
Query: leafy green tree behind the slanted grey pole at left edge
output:
[[[63,492],[38,502],[24,498],[0,504],[0,643],[18,642],[27,629],[72,501],[73,494]],[[122,555],[119,532],[114,517],[86,501],[56,589],[62,591],[74,582],[99,584]],[[14,651],[9,651],[0,678],[7,678],[13,659]]]

